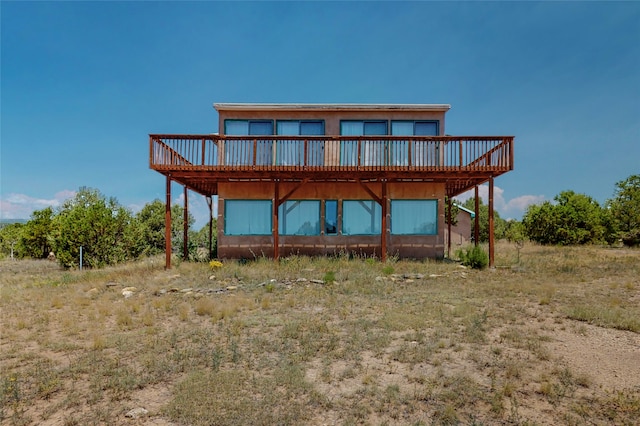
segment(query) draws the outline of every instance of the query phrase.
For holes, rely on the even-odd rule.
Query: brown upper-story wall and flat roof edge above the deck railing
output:
[[[341,120],[437,120],[439,136],[445,135],[445,113],[441,104],[228,104],[213,105],[218,111],[218,129],[224,134],[227,119],[323,120],[326,135],[340,135]]]

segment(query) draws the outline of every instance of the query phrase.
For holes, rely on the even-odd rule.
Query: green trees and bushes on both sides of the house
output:
[[[479,202],[480,241],[488,241],[489,208]],[[474,210],[475,199],[463,207]],[[452,208],[452,218],[456,211]],[[138,213],[107,198],[98,190],[81,188],[60,208],[47,207],[33,212],[26,223],[13,223],[0,229],[0,256],[13,250],[18,258],[46,258],[55,253],[64,267],[75,267],[83,249],[83,265],[102,267],[141,256],[163,253],[165,249],[165,205],[160,200],[146,204]],[[171,247],[183,252],[184,210],[171,206]],[[188,216],[189,258],[207,260],[209,226],[191,230]],[[214,222],[214,227],[215,227]],[[472,227],[475,226],[472,222]],[[472,232],[474,230],[472,229]],[[545,201],[527,208],[522,221],[504,220],[494,212],[496,239],[530,240],[539,244],[640,245],[640,175],[616,183],[612,199],[603,206],[588,195],[563,191],[554,202]],[[215,247],[215,229],[213,232]]]

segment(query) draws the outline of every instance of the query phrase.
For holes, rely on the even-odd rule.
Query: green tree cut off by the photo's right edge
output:
[[[640,245],[640,174],[616,183],[615,197],[607,202],[617,238]]]

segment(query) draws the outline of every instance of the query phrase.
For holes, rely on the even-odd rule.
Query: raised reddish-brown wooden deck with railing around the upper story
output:
[[[513,136],[149,135],[153,170],[204,196],[232,181],[443,182],[453,197],[513,170]]]

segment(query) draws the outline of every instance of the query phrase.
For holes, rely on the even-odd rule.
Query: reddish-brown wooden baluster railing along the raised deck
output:
[[[512,136],[150,135],[156,170],[500,171]]]

